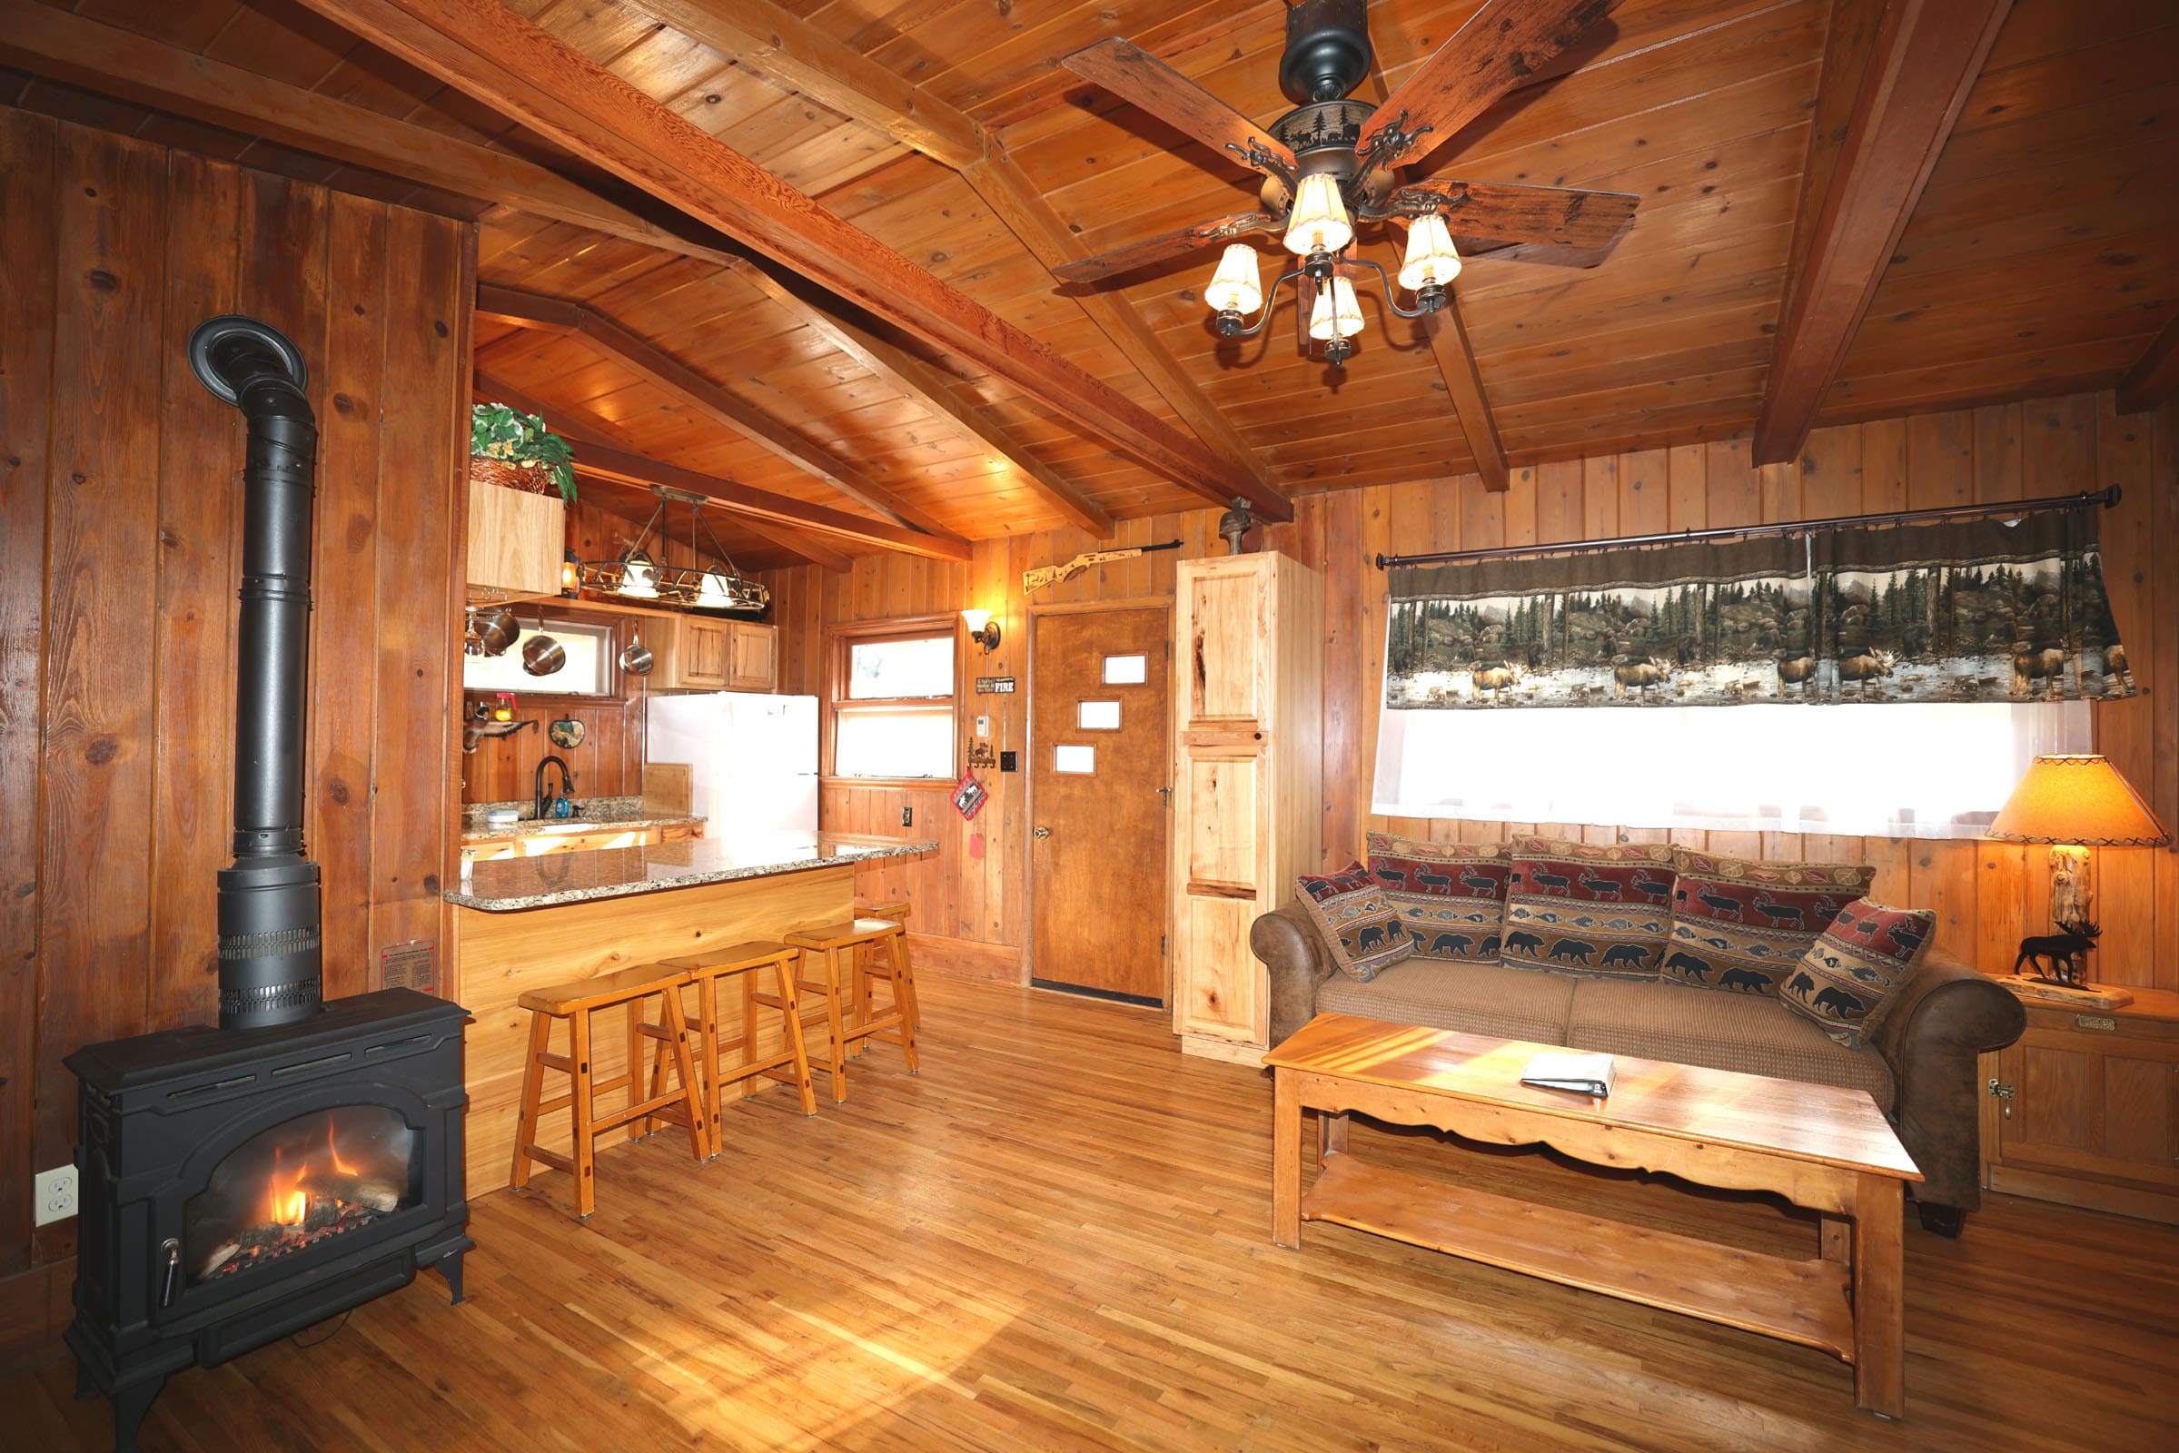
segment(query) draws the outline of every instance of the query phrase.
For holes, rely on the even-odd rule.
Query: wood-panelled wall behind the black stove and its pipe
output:
[[[4,1346],[65,1316],[74,1222],[31,1229],[76,1135],[61,1057],[216,1013],[244,427],[185,362],[211,314],[309,362],[327,996],[442,937],[475,235],[13,109],[0,218]]]

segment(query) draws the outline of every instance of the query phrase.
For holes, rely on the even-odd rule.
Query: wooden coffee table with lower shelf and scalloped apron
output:
[[[1907,1157],[1859,1089],[1617,1057],[1610,1100],[1532,1089],[1521,1070],[1558,1046],[1316,1015],[1264,1057],[1277,1072],[1270,1240],[1327,1220],[1569,1287],[1782,1338],[1854,1366],[1854,1403],[1907,1405],[1900,1220]],[[1301,1194],[1301,1111],[1320,1115],[1320,1174]],[[1776,1192],[1822,1216],[1793,1261],[1669,1231],[1423,1181],[1347,1155],[1347,1113],[1499,1146]]]

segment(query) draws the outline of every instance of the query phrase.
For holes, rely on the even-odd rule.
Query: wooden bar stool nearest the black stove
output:
[[[591,1174],[595,1141],[606,1131],[632,1126],[636,1120],[667,1120],[689,1126],[689,1148],[695,1159],[706,1157],[704,1104],[697,1089],[695,1065],[689,1059],[689,1030],[682,1024],[680,987],[689,982],[684,969],[645,963],[619,974],[577,978],[549,989],[529,989],[519,1004],[529,1011],[529,1061],[523,1067],[523,1118],[514,1126],[514,1174],[508,1179],[516,1189],[529,1185],[529,1161],[545,1161],[553,1170],[575,1176],[575,1207],[580,1216],[597,1209],[597,1185]],[[645,1017],[647,998],[658,998],[658,1024]],[[628,1065],[619,1078],[591,1078],[591,1013],[628,1006]],[[567,1019],[569,1052],[551,1054],[551,1024]],[[656,1039],[673,1048],[673,1063],[680,1070],[680,1085],[669,1091],[654,1087],[652,1098],[638,1098],[643,1087],[643,1041]],[[543,1100],[540,1091],[547,1070],[569,1076],[569,1094]],[[595,1096],[625,1089],[628,1107],[610,1115],[597,1113]],[[536,1144],[538,1120],[556,1109],[569,1109],[575,1118],[573,1155],[560,1155]],[[641,1131],[630,1131],[636,1135]]]

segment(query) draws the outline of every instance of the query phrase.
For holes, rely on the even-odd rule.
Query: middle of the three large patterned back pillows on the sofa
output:
[[[1671,928],[1671,845],[1514,839],[1504,963],[1656,978]]]

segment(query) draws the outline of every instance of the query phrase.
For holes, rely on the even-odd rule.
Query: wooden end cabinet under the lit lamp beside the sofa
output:
[[[1983,1057],[1983,1185],[2179,1222],[2179,993],[2122,1009],[2024,1004]]]

